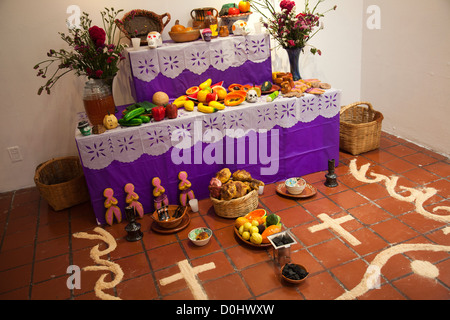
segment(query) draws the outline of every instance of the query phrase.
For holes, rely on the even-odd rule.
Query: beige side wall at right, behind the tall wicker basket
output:
[[[381,29],[363,32],[361,99],[383,130],[450,157],[450,1],[365,0]]]

